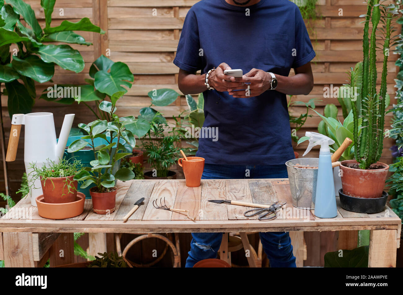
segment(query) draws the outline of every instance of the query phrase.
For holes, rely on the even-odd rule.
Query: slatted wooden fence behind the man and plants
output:
[[[44,12],[39,4],[40,1],[25,0],[25,2],[32,6],[39,18],[39,23],[44,27]],[[189,8],[196,2],[197,0],[58,0],[52,14],[52,26],[59,25],[65,19],[78,21],[82,17],[89,17],[93,23],[106,31],[106,34],[79,32],[87,41],[93,43],[88,47],[71,45],[83,55],[85,69],[83,72],[75,74],[56,66],[54,82],[37,84],[37,96],[39,97],[42,90],[53,84],[84,84],[84,79],[89,78],[88,71],[91,63],[101,54],[106,55],[109,52],[110,59],[127,63],[134,74],[132,88],[118,103],[120,115],[137,117],[142,107],[150,105],[147,92],[154,88],[172,88],[180,92],[177,86],[178,68],[172,64],[172,60],[177,49],[183,20]],[[339,105],[336,98],[323,98],[323,88],[330,84],[340,86],[345,83],[346,72],[362,60],[363,24],[360,23],[362,18],[358,17],[360,14],[366,13],[366,5],[362,2],[362,0],[318,1],[317,8],[322,17],[306,22],[317,54],[312,63],[314,89],[309,95],[294,96],[293,100],[308,101],[310,98],[320,98],[323,101],[317,104],[316,108],[319,113],[323,113],[323,108],[327,103]],[[60,15],[60,11],[63,12],[63,15]],[[153,11],[157,12],[156,16],[153,16]],[[391,103],[395,102],[393,79],[397,70],[394,65],[396,58],[396,55],[391,54],[388,62],[387,91],[391,95]],[[380,62],[378,62],[378,69],[380,68]],[[10,132],[10,118],[6,108],[7,97],[2,96],[1,102],[7,143]],[[166,117],[179,115],[187,109],[185,97],[181,96],[170,106],[156,107],[156,109]],[[54,113],[57,134],[60,131],[64,114],[76,114],[75,126],[78,123],[87,123],[94,119],[85,106],[77,106],[77,104],[66,106],[37,99],[33,112],[38,111]],[[291,107],[294,115],[299,115],[303,111],[303,107]],[[316,131],[320,117],[314,112],[310,112],[310,114],[313,117],[307,120],[297,135],[302,136],[305,131]],[[339,110],[339,115],[341,115],[341,110]],[[343,119],[342,116],[340,118]],[[388,128],[390,120],[391,115],[388,115],[385,128]],[[8,186],[13,196],[19,188],[24,172],[23,140],[22,133],[17,160],[7,163],[10,180]],[[392,162],[389,151],[391,145],[393,145],[391,139],[384,140],[381,160],[385,163]],[[301,144],[295,150],[301,154],[305,147],[305,144]],[[317,152],[317,150],[313,150],[308,156],[317,156]],[[2,171],[0,178],[0,191],[4,191]],[[310,253],[308,253],[310,262],[307,262],[307,265],[323,264],[323,254],[334,248],[334,243],[328,243],[328,241],[336,239],[337,233],[333,233],[331,236],[323,236],[319,232],[305,234],[310,238],[305,237],[311,241]]]

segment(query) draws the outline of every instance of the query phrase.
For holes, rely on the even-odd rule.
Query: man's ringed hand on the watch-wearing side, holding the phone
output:
[[[243,75],[242,78],[237,78],[235,81],[250,83],[249,93],[247,92],[247,85],[242,85],[238,87],[229,87],[226,91],[229,92],[229,95],[232,95],[235,98],[247,98],[258,96],[270,89],[270,82],[272,80],[272,76],[264,70],[258,70],[253,68],[248,73]],[[239,91],[234,91],[239,90]],[[249,94],[249,95],[247,95]]]

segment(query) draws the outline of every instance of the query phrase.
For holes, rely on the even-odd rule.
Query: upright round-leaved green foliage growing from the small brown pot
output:
[[[74,180],[83,181],[80,188],[95,184],[99,193],[105,193],[113,191],[115,180],[126,181],[133,179],[135,176],[133,171],[128,168],[120,168],[114,172],[114,167],[118,167],[120,160],[131,155],[131,153],[120,152],[126,150],[126,147],[119,142],[120,139],[124,139],[132,148],[136,144],[133,134],[126,129],[127,125],[135,123],[135,117],[118,117],[115,114],[116,102],[124,93],[123,91],[118,91],[112,94],[111,102],[104,100],[99,104],[99,109],[106,113],[107,120],[97,119],[88,124],[80,123],[78,125],[87,135],[73,141],[67,151],[71,153],[77,152],[89,145],[95,157],[95,160],[90,162],[91,167],[81,169],[73,178]],[[109,140],[107,134],[110,135]],[[96,146],[94,139],[99,137],[108,142],[108,144]],[[116,142],[114,142],[115,139]]]

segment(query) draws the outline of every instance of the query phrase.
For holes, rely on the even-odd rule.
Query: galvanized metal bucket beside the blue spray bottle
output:
[[[319,158],[293,159],[287,161],[285,164],[293,197],[293,206],[303,209],[314,209]],[[304,166],[316,168],[298,168]]]

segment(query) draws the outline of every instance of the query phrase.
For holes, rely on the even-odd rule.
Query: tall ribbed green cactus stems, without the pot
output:
[[[356,104],[352,104],[354,116],[354,142],[355,159],[359,168],[368,169],[371,164],[376,163],[383,148],[383,130],[385,116],[386,98],[386,74],[387,61],[389,57],[389,46],[391,33],[394,31],[391,26],[391,19],[395,17],[397,7],[391,4],[388,6],[379,4],[379,0],[368,0],[367,14],[364,14],[364,39],[363,39],[363,63],[362,63],[362,84],[361,84],[361,110]],[[372,32],[369,37],[369,23],[372,23]],[[379,24],[381,27],[378,27]],[[377,34],[382,33],[383,43],[383,66],[379,94],[376,92],[376,48]],[[360,115],[361,113],[361,115]],[[362,117],[361,133],[358,129],[358,119]]]

